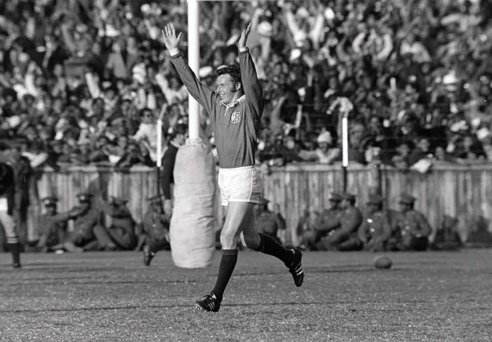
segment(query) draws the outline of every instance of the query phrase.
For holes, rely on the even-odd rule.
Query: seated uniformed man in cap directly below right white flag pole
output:
[[[340,195],[340,226],[322,238],[320,246],[326,250],[360,250],[362,244],[357,237],[357,229],[362,222],[362,213],[355,207],[355,195],[345,191]]]

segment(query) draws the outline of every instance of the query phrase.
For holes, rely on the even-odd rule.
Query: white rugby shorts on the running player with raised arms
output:
[[[263,193],[263,182],[253,166],[219,168],[220,202],[251,202],[258,204]]]

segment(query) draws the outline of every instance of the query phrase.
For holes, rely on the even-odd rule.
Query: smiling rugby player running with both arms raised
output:
[[[239,67],[217,69],[216,90],[201,83],[178,49],[181,33],[174,26],[162,31],[171,61],[190,94],[205,108],[213,127],[219,161],[218,184],[221,204],[227,207],[220,233],[222,257],[214,288],[196,308],[217,312],[237,262],[237,239],[243,233],[249,248],[274,255],[294,277],[296,286],[304,279],[300,249],[286,249],[267,234],[256,231],[254,206],[260,201],[262,182],[254,166],[257,137],[263,115],[263,90],[253,58],[246,47],[251,24],[238,41]]]

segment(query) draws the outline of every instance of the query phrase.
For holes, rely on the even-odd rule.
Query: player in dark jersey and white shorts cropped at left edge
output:
[[[12,266],[20,267],[20,245],[15,229],[14,198],[15,178],[12,166],[4,162],[8,160],[12,148],[0,143],[0,223],[4,230],[7,246],[12,253]]]

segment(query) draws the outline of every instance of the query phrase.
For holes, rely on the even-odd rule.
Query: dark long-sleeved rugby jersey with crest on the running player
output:
[[[219,166],[233,168],[254,165],[264,100],[249,50],[239,52],[244,95],[234,101],[233,106],[223,103],[218,93],[198,80],[181,53],[171,55],[171,60],[191,96],[210,115]]]

